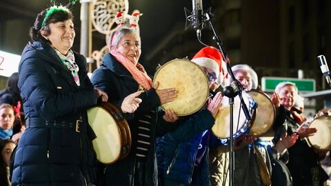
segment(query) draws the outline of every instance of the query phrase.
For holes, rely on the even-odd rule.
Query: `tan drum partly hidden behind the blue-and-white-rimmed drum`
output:
[[[248,94],[258,105],[255,110],[255,119],[250,127],[250,136],[262,136],[272,127],[276,118],[276,109],[267,94],[258,90],[250,90]]]

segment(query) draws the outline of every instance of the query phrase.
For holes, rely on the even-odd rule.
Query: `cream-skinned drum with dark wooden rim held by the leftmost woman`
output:
[[[110,164],[128,155],[130,128],[117,107],[108,102],[99,103],[88,110],[88,123],[97,136],[92,144],[99,162]]]

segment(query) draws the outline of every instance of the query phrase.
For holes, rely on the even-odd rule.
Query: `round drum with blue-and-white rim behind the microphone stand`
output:
[[[239,96],[234,97],[233,104],[233,138],[234,140],[240,140],[244,134],[248,134],[250,131],[250,123],[254,121],[254,107],[256,106],[255,101],[251,96],[242,92],[243,101],[245,102],[248,112],[250,113],[251,119],[247,120],[246,116],[241,107],[241,101]],[[212,133],[221,138],[223,145],[230,145],[230,105],[229,100],[223,97],[219,112],[215,118],[215,124],[212,126]]]

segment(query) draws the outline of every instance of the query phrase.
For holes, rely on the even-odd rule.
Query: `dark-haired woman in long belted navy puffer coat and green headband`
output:
[[[12,172],[12,185],[96,185],[94,132],[86,110],[107,101],[87,75],[86,58],[72,51],[72,12],[52,6],[37,15],[19,63],[23,132]],[[140,92],[137,92],[140,94]],[[127,107],[134,96],[126,99]],[[127,110],[130,112],[130,110]]]

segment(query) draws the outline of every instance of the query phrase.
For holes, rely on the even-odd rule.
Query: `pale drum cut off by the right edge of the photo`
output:
[[[331,116],[324,115],[314,118],[309,127],[317,129],[313,136],[308,136],[310,145],[316,149],[331,150]]]

